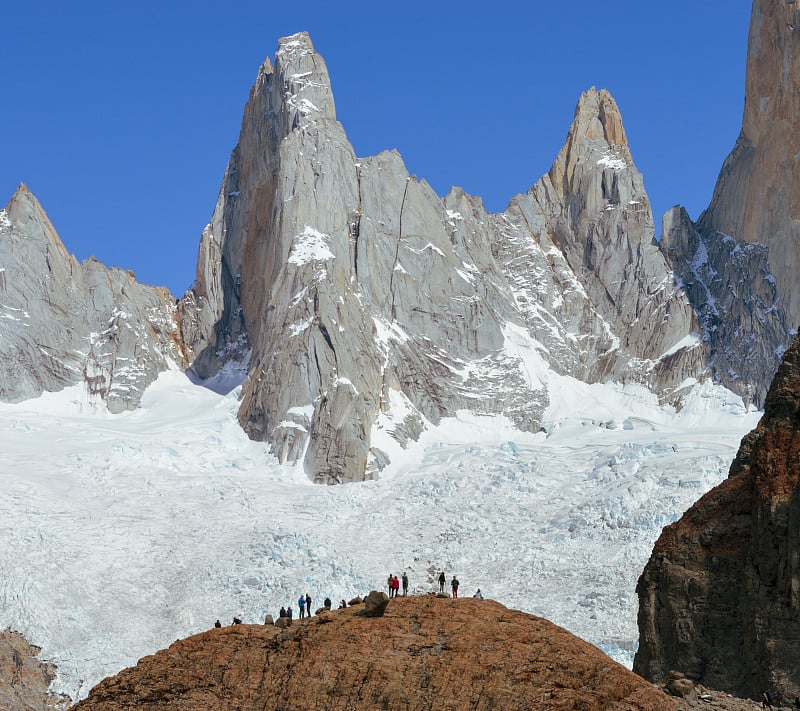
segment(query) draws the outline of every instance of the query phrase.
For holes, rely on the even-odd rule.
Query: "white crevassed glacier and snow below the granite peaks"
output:
[[[761,413],[698,385],[680,412],[641,388],[551,374],[543,432],[463,413],[380,481],[312,485],[220,395],[164,373],[136,412],[81,388],[0,405],[0,625],[58,665],[54,690],[103,677],[234,615],[262,622],[444,570],[462,596],[542,615],[630,665],[635,585],[661,528],[721,481]],[[380,435],[384,438],[386,433]]]

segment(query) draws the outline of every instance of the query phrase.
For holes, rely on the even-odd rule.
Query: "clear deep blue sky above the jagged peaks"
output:
[[[751,0],[43,0],[3,7],[0,205],[25,182],[79,259],[180,295],[258,67],[308,30],[359,155],[502,210],[590,86],[616,98],[660,228],[741,128]]]

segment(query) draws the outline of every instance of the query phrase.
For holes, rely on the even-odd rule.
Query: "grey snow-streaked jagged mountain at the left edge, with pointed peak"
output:
[[[64,249],[30,191],[0,211],[0,400],[83,383],[111,412],[135,409],[158,373],[181,363],[175,300]]]

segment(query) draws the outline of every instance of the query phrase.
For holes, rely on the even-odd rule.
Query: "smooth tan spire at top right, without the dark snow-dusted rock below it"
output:
[[[769,248],[791,328],[800,325],[800,6],[753,0],[742,131],[699,226]]]

